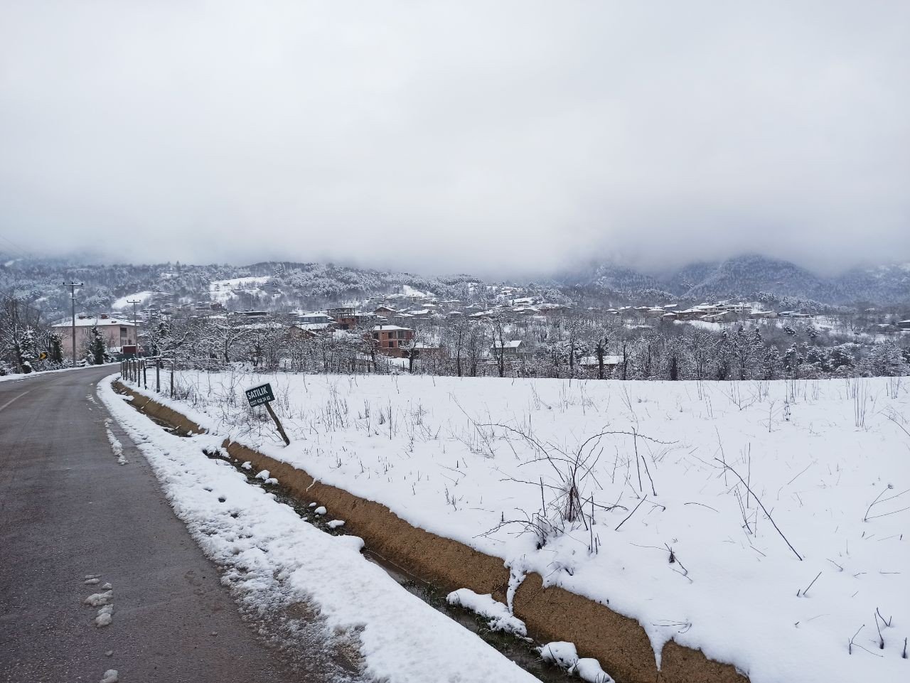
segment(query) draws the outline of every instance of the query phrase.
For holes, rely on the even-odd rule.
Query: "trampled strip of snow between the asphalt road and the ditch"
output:
[[[375,680],[537,680],[368,562],[359,538],[319,531],[223,460],[203,455],[203,448],[217,450],[219,438],[169,434],[129,407],[109,380],[99,384],[98,396],[147,458],[190,534],[222,567],[222,582],[248,610],[282,612],[307,604],[322,619],[311,647],[356,645]],[[309,620],[291,632],[299,633]],[[331,671],[319,670],[331,678]]]

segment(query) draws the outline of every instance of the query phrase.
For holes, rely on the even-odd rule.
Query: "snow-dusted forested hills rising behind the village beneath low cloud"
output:
[[[5,259],[0,254],[0,293],[39,307],[45,315],[69,312],[65,281],[84,282],[79,307],[88,312],[129,311],[128,302],[179,306],[217,302],[227,308],[318,309],[386,296],[407,287],[441,298],[483,300],[493,290],[474,276],[419,276],[323,263],[263,262],[219,264],[86,265],[62,259]],[[824,277],[787,261],[738,256],[696,263],[662,274],[602,263],[558,276],[542,274],[536,283],[508,283],[549,300],[649,303],[662,298],[761,300],[790,307],[824,305],[910,305],[910,264],[856,268]],[[511,296],[523,296],[511,294]]]

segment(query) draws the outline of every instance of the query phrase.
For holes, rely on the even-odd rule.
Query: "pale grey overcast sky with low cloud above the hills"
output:
[[[0,236],[503,277],[910,261],[908,31],[906,0],[0,0]]]

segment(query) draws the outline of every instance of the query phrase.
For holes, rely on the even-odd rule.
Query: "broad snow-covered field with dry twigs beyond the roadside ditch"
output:
[[[245,407],[263,381],[290,447]],[[637,618],[658,662],[672,638],[753,683],[910,679],[906,379],[178,383],[219,435]]]

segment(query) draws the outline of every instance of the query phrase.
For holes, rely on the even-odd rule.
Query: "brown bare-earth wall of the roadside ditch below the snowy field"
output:
[[[183,433],[205,431],[192,420],[128,387],[117,390],[134,397],[132,404]],[[298,467],[225,440],[231,457],[268,469],[296,496],[318,501],[332,516],[344,519],[352,534],[363,538],[371,552],[407,573],[445,590],[470,588],[506,601],[509,571],[500,557],[490,557],[458,541],[413,527],[388,507],[353,496],[348,491],[316,481]],[[651,642],[635,619],[623,617],[606,605],[582,598],[563,588],[543,588],[543,579],[531,574],[521,583],[513,601],[515,616],[541,640],[568,640],[581,657],[597,658],[617,683],[748,683],[733,666],[706,658],[701,650],[674,641],[662,650],[662,668],[654,664]]]

